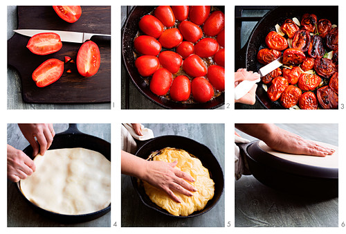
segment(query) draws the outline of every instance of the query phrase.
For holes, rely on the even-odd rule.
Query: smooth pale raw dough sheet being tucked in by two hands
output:
[[[24,196],[54,213],[82,215],[111,203],[111,162],[84,148],[48,150],[34,159],[36,170],[21,180]]]

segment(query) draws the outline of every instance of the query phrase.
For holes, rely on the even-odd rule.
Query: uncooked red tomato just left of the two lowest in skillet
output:
[[[173,75],[165,68],[157,69],[150,80],[150,90],[157,96],[163,96],[170,90]]]

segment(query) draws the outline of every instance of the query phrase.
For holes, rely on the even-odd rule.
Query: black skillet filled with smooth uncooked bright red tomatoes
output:
[[[156,6],[135,6],[132,8],[129,17],[122,28],[122,61],[125,64],[127,72],[131,78],[131,81],[137,87],[137,89],[145,97],[147,97],[152,102],[157,105],[167,108],[167,109],[214,109],[224,105],[225,96],[221,93],[220,96],[206,103],[194,103],[194,104],[183,104],[180,102],[174,102],[171,100],[166,100],[160,96],[156,96],[149,89],[149,85],[145,83],[143,78],[138,73],[136,66],[134,65],[134,37],[138,32],[138,22],[141,17],[152,12]],[[224,7],[219,7],[220,10],[224,10]]]

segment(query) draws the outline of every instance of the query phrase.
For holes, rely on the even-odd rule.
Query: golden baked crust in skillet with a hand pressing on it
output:
[[[188,172],[194,177],[195,182],[191,183],[197,192],[193,192],[192,197],[181,195],[179,192],[174,194],[181,199],[181,203],[173,201],[166,192],[159,190],[149,183],[143,181],[145,192],[149,198],[161,208],[167,210],[172,215],[188,216],[194,211],[203,210],[208,201],[214,196],[214,181],[210,179],[208,169],[204,168],[201,161],[190,156],[185,150],[166,147],[159,152],[154,152],[150,157],[156,161],[173,163],[178,161],[176,169]]]

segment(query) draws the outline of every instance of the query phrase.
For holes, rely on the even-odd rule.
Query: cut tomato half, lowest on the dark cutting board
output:
[[[37,87],[46,87],[59,80],[63,72],[64,62],[57,59],[46,60],[33,72],[33,80]]]

